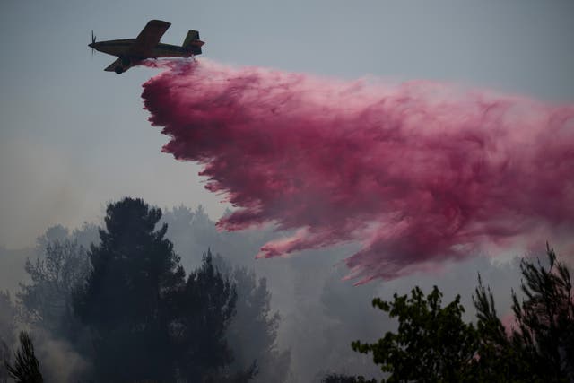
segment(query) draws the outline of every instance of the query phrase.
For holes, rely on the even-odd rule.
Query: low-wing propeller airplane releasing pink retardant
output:
[[[170,28],[170,22],[161,20],[149,21],[135,39],[112,39],[98,41],[91,31],[91,44],[88,47],[100,52],[117,56],[117,60],[111,63],[104,71],[122,74],[134,65],[138,65],[146,58],[158,57],[192,57],[201,55],[201,47],[204,41],[199,39],[197,30],[189,30],[181,47],[177,45],[163,44],[161,36]]]

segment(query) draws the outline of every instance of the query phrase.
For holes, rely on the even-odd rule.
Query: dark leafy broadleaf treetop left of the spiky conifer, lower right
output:
[[[398,318],[398,331],[387,332],[375,344],[355,341],[352,349],[373,353],[375,364],[391,373],[388,382],[467,381],[475,356],[476,331],[462,320],[465,309],[460,296],[444,308],[441,300],[437,286],[426,299],[418,287],[410,298],[395,294],[392,302],[374,299],[373,307]]]

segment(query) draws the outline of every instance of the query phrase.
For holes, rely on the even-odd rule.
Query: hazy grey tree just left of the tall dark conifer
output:
[[[26,261],[30,283],[17,294],[33,325],[50,334],[73,340],[79,323],[74,317],[74,292],[90,271],[85,248],[69,239],[46,239],[45,254],[35,263]]]

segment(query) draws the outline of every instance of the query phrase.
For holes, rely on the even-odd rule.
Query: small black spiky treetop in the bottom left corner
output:
[[[20,333],[20,350],[15,353],[14,364],[4,361],[10,377],[16,383],[42,383],[44,379],[39,371],[39,362],[34,354],[34,344],[28,333]]]

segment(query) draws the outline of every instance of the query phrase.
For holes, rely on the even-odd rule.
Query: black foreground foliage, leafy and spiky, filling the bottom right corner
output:
[[[398,318],[396,333],[387,332],[375,344],[353,342],[360,353],[373,353],[387,381],[574,381],[574,301],[566,265],[547,246],[549,265],[523,259],[519,301],[512,292],[516,326],[500,320],[490,288],[479,274],[473,301],[476,328],[465,324],[459,297],[445,308],[435,286],[424,299],[415,287],[411,297],[373,306]]]

